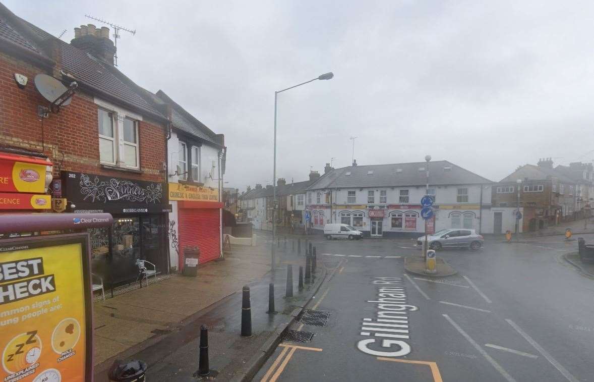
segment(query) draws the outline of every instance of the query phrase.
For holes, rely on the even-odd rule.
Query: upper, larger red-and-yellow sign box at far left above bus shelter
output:
[[[0,192],[45,192],[45,171],[52,162],[0,153]]]

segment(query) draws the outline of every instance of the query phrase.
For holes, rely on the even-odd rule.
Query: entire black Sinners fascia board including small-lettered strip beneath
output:
[[[62,171],[63,197],[75,213],[162,213],[171,210],[167,184]]]

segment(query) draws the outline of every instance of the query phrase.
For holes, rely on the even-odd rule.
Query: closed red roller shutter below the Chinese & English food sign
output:
[[[219,258],[219,209],[179,209],[179,267],[184,267],[184,248],[200,248],[200,264]]]

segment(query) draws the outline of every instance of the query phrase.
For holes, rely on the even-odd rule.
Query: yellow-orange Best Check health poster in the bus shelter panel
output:
[[[91,381],[89,235],[0,240],[0,380]]]

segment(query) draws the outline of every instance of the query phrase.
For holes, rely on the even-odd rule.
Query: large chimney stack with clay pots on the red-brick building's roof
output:
[[[70,45],[113,65],[115,46],[109,39],[108,27],[97,29],[93,24],[81,25],[74,29],[74,39],[70,41]]]

